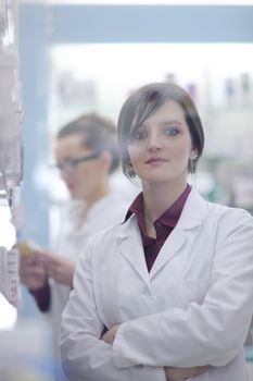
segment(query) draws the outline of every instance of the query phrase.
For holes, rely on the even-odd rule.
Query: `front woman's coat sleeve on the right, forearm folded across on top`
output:
[[[190,303],[187,309],[121,324],[113,344],[118,369],[140,364],[223,366],[242,351],[253,309],[252,221],[242,210],[220,221],[212,285],[202,305]]]

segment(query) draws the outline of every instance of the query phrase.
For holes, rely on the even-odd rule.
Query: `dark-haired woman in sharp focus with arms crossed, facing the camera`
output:
[[[118,142],[142,192],[78,259],[60,335],[67,377],[246,381],[253,218],[188,184],[204,146],[193,101],[177,85],[141,87],[121,110]]]

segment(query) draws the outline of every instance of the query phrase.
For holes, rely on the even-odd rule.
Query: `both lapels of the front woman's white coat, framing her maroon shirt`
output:
[[[122,241],[119,243],[121,254],[149,287],[151,279],[185,246],[187,234],[189,234],[188,231],[195,229],[202,223],[207,212],[207,201],[192,187],[180,219],[165,241],[150,273],[146,265],[141,235],[136,216],[132,214],[124,224],[118,226],[116,236]]]

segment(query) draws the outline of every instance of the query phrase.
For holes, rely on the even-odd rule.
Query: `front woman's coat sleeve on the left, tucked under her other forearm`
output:
[[[100,340],[103,324],[92,292],[91,256],[88,245],[78,260],[74,290],[62,316],[60,348],[66,376],[71,381],[165,381],[162,367],[116,369],[112,345]]]

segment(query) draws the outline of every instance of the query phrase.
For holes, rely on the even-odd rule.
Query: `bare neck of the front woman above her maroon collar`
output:
[[[153,224],[168,209],[187,187],[187,181],[179,184],[143,184],[143,210],[146,224]]]

